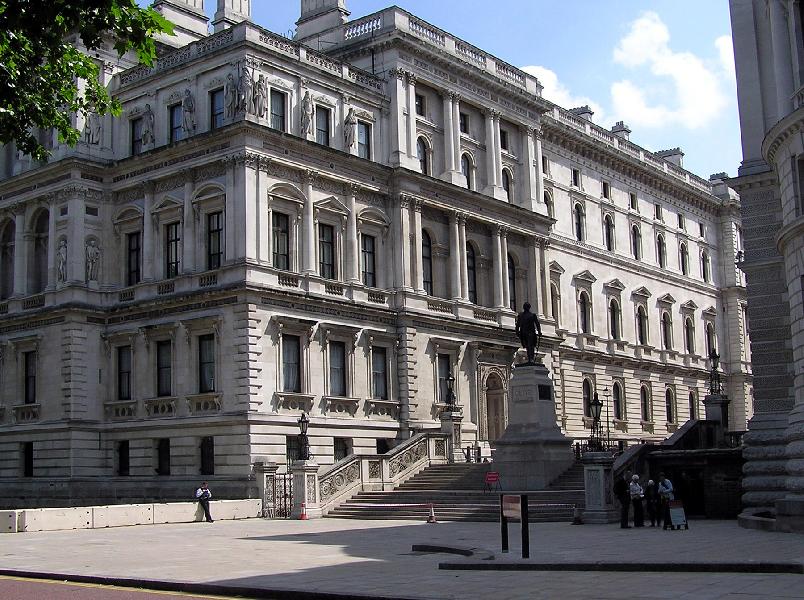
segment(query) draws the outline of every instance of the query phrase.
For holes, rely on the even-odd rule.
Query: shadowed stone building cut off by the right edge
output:
[[[804,531],[804,22],[797,1],[730,0],[756,413],[743,503]]]

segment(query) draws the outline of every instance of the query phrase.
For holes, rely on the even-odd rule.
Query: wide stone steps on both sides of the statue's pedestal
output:
[[[387,492],[360,492],[327,516],[342,519],[425,520],[433,504],[439,521],[498,521],[499,492],[484,491],[492,463],[431,465],[398,488]],[[505,486],[505,482],[502,482]],[[503,487],[503,490],[505,488]],[[404,506],[418,504],[424,506]],[[551,506],[551,505],[563,506]],[[546,490],[528,496],[531,523],[572,521],[573,508],[583,507],[583,467],[576,463]]]

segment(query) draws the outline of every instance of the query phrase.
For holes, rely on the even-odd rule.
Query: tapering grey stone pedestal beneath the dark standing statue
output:
[[[556,424],[553,382],[536,360],[516,367],[511,376],[508,426],[494,451],[503,489],[542,490],[575,460],[572,442]]]

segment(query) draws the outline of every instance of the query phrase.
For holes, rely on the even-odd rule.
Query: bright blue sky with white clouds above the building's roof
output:
[[[214,0],[206,0],[214,12]],[[347,0],[352,19],[387,0]],[[565,108],[624,120],[649,150],[680,146],[703,177],[741,160],[726,0],[398,0],[433,25],[536,74]],[[253,0],[253,19],[292,34],[299,0]],[[470,15],[478,15],[471,18]]]

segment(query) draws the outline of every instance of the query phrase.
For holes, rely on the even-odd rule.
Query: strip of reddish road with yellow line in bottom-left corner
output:
[[[194,596],[66,581],[0,576],[2,600],[234,600],[225,596]]]

